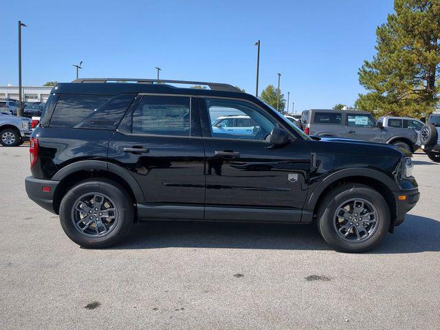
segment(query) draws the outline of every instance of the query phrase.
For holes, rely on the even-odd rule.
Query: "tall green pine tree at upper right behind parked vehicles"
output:
[[[377,54],[359,81],[369,92],[355,106],[376,115],[426,116],[439,106],[440,0],[395,0],[376,30]]]

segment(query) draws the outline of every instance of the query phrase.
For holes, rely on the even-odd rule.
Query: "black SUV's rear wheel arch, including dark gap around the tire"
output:
[[[52,177],[53,181],[59,181],[54,192],[54,210],[56,214],[59,212],[61,200],[67,190],[72,188],[78,181],[91,177],[111,179],[129,192],[134,203],[145,201],[142,188],[126,169],[101,160],[83,160],[61,168]]]

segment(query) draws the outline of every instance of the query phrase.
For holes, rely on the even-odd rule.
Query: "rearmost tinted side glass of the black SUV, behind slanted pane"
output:
[[[61,94],[50,120],[50,126],[72,128],[107,102],[109,98],[111,96]]]

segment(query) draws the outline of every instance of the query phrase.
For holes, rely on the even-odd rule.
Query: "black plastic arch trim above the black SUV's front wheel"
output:
[[[311,189],[311,193],[306,199],[304,209],[314,210],[316,203],[318,202],[318,199],[325,188],[346,177],[365,177],[366,179],[373,178],[388,186],[391,191],[399,190],[399,186],[397,186],[396,182],[391,179],[391,177],[388,177],[388,175],[380,172],[379,170],[375,170],[373,168],[347,168],[331,173],[331,175],[325,177],[322,179],[322,181],[316,182],[314,184],[316,185],[315,188]]]

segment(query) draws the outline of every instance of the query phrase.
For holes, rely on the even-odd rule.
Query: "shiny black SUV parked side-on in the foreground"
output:
[[[252,127],[214,129],[227,115]],[[230,85],[93,78],[52,89],[25,184],[87,248],[120,241],[137,219],[316,221],[333,248],[362,252],[417,203],[410,157],[386,144],[312,140]]]

